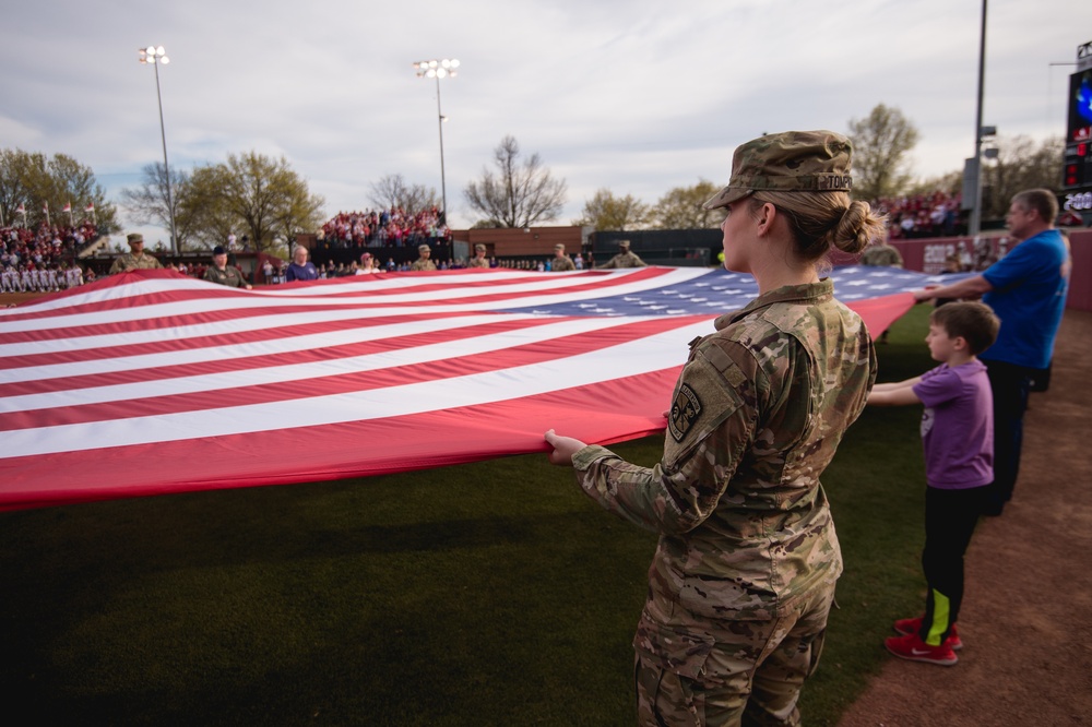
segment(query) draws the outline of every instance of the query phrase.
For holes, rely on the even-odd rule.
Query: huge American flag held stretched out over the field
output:
[[[874,335],[935,279],[842,267]],[[253,291],[134,271],[0,311],[0,510],[405,472],[662,431],[696,267],[391,273]]]

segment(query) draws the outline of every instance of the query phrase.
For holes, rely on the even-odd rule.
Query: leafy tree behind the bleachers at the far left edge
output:
[[[88,203],[95,205],[100,233],[118,229],[117,211],[106,201],[106,193],[90,167],[64,154],[47,158],[40,152],[0,150],[0,210],[5,224],[22,222],[22,215],[16,217],[15,212],[20,204],[26,210],[28,225],[45,222],[46,204],[50,221],[64,225],[69,222],[69,215],[62,212],[66,204],[72,205],[71,219],[76,222]]]

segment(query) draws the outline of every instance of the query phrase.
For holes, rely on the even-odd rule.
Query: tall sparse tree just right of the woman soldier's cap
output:
[[[853,142],[853,194],[878,200],[901,194],[910,184],[907,154],[917,129],[898,108],[878,104],[864,119],[850,120]]]

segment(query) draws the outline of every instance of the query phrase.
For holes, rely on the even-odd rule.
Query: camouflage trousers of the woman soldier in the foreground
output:
[[[819,664],[833,598],[823,587],[772,621],[710,624],[696,636],[712,645],[700,665],[673,669],[638,651],[638,725],[799,725],[796,702]]]

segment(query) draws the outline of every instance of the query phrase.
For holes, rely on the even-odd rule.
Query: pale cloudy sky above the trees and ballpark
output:
[[[558,224],[604,187],[651,203],[700,178],[726,182],[737,144],[844,132],[880,103],[917,126],[913,171],[930,177],[974,151],[981,11],[980,0],[22,2],[0,26],[0,144],[71,155],[116,202],[163,158],[154,71],[136,60],[138,47],[163,45],[171,167],[283,155],[328,215],[371,206],[370,183],[389,174],[439,191],[436,83],[412,69],[438,58],[462,63],[440,82],[455,227],[475,221],[463,189],[506,134],[567,180]],[[1052,63],[1089,40],[1092,2],[989,3],[984,123],[1065,133],[1073,68]]]

